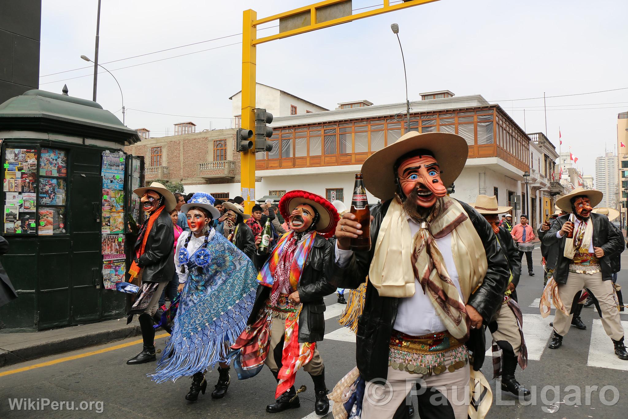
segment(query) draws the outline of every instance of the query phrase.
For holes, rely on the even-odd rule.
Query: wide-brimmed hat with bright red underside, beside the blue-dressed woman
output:
[[[291,190],[279,200],[279,212],[284,219],[288,219],[292,211],[301,204],[311,205],[318,212],[318,221],[314,226],[315,230],[323,236],[333,235],[336,224],[340,220],[338,211],[327,199],[316,193],[305,190]]]

